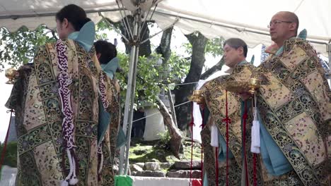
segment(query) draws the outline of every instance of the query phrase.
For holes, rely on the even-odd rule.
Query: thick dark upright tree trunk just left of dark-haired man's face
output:
[[[200,79],[202,73],[202,68],[204,66],[204,54],[208,39],[204,37],[201,33],[193,33],[191,35],[185,35],[192,44],[192,58],[189,73],[185,78],[184,83],[197,82]],[[197,84],[181,85],[175,91],[175,105],[182,104],[188,101],[187,97],[192,94],[193,89]],[[188,128],[188,123],[191,118],[191,104],[183,104],[182,106],[176,107],[177,124],[180,130],[186,130]]]

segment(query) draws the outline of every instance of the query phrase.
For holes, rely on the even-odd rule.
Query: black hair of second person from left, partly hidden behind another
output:
[[[98,40],[94,43],[96,54],[101,54],[99,61],[101,64],[107,64],[112,58],[117,56],[116,46],[110,42]]]

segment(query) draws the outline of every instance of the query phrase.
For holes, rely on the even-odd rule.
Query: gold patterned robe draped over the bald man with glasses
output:
[[[294,168],[275,179],[263,173],[267,185],[330,184],[331,93],[315,50],[303,39],[288,39],[283,53],[256,73],[267,79],[257,95],[262,123]]]

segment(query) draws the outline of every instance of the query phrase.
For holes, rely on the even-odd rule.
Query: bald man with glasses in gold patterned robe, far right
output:
[[[265,76],[257,92],[262,161],[255,173],[264,185],[330,184],[331,91],[316,51],[296,37],[298,25],[291,12],[272,17],[277,52],[255,70]],[[250,170],[248,162],[248,176]]]

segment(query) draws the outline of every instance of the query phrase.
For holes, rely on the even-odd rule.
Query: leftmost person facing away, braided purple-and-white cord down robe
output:
[[[74,4],[64,6],[56,22],[59,40],[40,46],[24,94],[7,102],[20,116],[16,185],[112,185],[112,165],[100,163],[97,152],[103,83],[94,23]],[[100,97],[107,106],[105,94]],[[110,146],[102,151],[110,153]],[[111,162],[106,155],[104,162]]]

